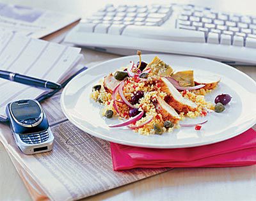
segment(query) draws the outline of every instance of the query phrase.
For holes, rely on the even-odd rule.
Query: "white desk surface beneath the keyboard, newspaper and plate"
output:
[[[10,3],[10,0],[0,0]],[[86,17],[104,0],[13,0],[13,4],[35,6],[48,10],[75,13]],[[145,1],[144,1],[145,2]],[[153,2],[153,1],[147,1]],[[157,1],[158,3],[166,1]],[[172,1],[173,2],[173,1]],[[179,1],[180,2],[180,1]],[[223,11],[254,14],[256,1],[182,1],[202,4]],[[143,1],[108,1],[108,3],[143,3]],[[118,56],[92,50],[83,50],[84,64],[104,61]],[[255,67],[239,67],[239,70],[256,80]],[[0,125],[1,126],[1,125]],[[1,133],[0,133],[1,135]],[[163,174],[116,188],[84,200],[256,200],[256,165],[237,168],[177,168]],[[0,143],[0,200],[31,200],[23,182]]]

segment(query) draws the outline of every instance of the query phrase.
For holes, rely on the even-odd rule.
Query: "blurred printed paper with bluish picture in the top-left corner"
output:
[[[79,17],[66,13],[0,3],[0,31],[31,38],[42,38],[78,20]]]

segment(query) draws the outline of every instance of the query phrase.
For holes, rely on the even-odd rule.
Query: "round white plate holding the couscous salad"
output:
[[[143,55],[142,59],[150,62],[154,56],[156,55]],[[167,54],[157,56],[170,64],[174,70],[195,70],[195,73],[208,71],[220,75],[221,82],[218,88],[206,95],[205,99],[214,102],[218,94],[227,93],[233,97],[231,103],[220,114],[214,112],[207,117],[187,120],[189,123],[209,120],[200,131],[193,127],[180,128],[173,133],[144,136],[127,128],[109,128],[108,124],[117,123],[118,119],[102,117],[102,107],[90,99],[90,93],[92,87],[109,72],[120,66],[127,66],[129,61],[138,61],[138,56],[129,56],[98,64],[69,82],[61,94],[64,114],[78,128],[95,137],[119,144],[154,148],[212,144],[235,137],[256,123],[256,82],[252,78],[226,64],[209,59]]]

